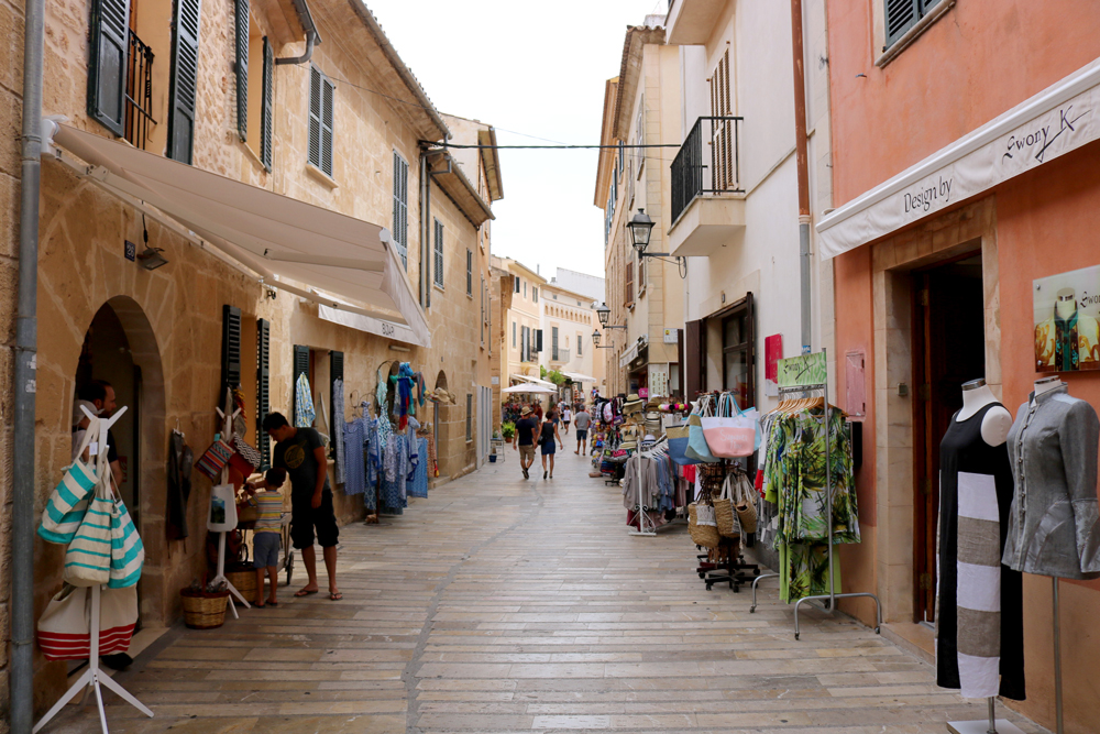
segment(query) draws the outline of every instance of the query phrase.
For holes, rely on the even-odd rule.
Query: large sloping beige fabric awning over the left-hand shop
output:
[[[383,227],[53,120],[44,129],[52,133],[44,135],[44,152],[125,201],[152,205],[266,285],[306,296],[329,311],[364,317],[361,325],[348,324],[352,328],[431,343],[424,311]],[[68,161],[68,154],[87,166]],[[389,329],[383,325],[393,333],[385,333]]]

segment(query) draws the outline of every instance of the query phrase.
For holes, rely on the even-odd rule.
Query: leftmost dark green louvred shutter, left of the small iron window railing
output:
[[[88,58],[88,114],[123,134],[130,0],[92,0]]]

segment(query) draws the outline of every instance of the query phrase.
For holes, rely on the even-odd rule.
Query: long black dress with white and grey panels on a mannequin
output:
[[[1024,700],[1023,587],[1001,565],[1012,503],[1007,445],[989,446],[981,421],[952,417],[939,443],[936,683],[968,699]]]

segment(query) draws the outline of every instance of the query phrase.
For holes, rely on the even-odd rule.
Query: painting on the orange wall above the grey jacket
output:
[[[1035,371],[1100,370],[1100,265],[1034,281]]]

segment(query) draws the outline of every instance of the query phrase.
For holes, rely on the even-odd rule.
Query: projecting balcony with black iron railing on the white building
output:
[[[672,254],[710,255],[745,228],[741,122],[735,117],[700,118],[680,146],[672,162]]]

